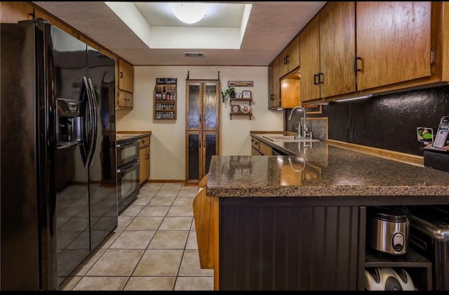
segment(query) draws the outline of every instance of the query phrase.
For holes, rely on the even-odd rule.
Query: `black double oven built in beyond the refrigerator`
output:
[[[117,138],[117,198],[119,212],[133,202],[140,192],[140,143],[135,136]]]

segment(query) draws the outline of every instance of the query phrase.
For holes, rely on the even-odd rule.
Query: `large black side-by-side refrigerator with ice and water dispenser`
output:
[[[0,290],[55,290],[118,224],[115,61],[0,24]]]

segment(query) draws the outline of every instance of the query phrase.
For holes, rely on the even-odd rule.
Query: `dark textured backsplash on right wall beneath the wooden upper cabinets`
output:
[[[287,110],[286,117],[289,114]],[[436,132],[444,115],[449,115],[449,86],[329,103],[323,106],[323,114],[308,117],[328,117],[329,139],[422,156],[416,127]],[[286,130],[292,130],[293,122],[301,117],[296,111],[291,121],[286,120]]]

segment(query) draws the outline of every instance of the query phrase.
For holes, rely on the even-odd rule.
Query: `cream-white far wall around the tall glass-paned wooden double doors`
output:
[[[150,180],[185,180],[185,80],[218,79],[221,90],[227,81],[254,81],[253,87],[239,87],[253,94],[253,116],[229,118],[229,100],[220,103],[220,155],[251,155],[250,131],[283,130],[283,111],[268,110],[267,67],[134,67],[134,108],[117,110],[117,131],[152,131]],[[156,78],[177,78],[177,119],[153,119]],[[221,97],[220,97],[221,101]]]

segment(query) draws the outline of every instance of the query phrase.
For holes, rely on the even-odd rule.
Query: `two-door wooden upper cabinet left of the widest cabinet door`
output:
[[[327,2],[300,34],[301,100],[356,91],[355,2]]]

